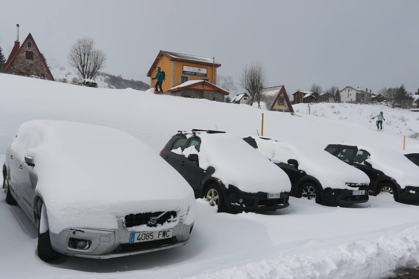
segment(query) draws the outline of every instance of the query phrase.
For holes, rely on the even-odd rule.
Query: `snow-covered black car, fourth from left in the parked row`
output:
[[[324,149],[370,177],[370,193],[387,192],[396,201],[419,202],[417,166],[395,151],[352,144],[331,143]]]

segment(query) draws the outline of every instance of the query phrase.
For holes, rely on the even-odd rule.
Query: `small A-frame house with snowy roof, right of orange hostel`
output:
[[[247,105],[250,105],[252,97],[247,100]],[[253,105],[257,103],[256,99]],[[264,88],[260,99],[261,109],[272,110],[279,112],[294,112],[290,98],[288,98],[287,91],[283,85]]]

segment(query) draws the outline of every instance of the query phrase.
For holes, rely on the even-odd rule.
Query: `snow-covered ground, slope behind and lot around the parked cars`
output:
[[[262,112],[264,136],[319,149],[344,142],[374,144],[383,152],[402,151],[403,136],[419,131],[419,114],[380,105],[318,104],[310,107],[310,115],[305,112],[307,105],[296,105],[298,112],[290,115],[7,74],[0,74],[0,84],[0,154],[19,125],[31,119],[117,128],[149,144],[156,156],[178,130],[261,133]],[[369,130],[370,116],[380,111],[391,124],[385,123],[385,132]],[[419,141],[406,137],[406,149],[419,150]],[[155,170],[155,175],[163,174]],[[396,203],[389,195],[370,196],[369,202],[349,207],[326,207],[292,197],[290,206],[282,210],[237,215],[217,213],[199,199],[198,218],[186,246],[109,260],[63,256],[54,264],[37,257],[36,229],[19,207],[7,205],[1,196],[0,278],[356,279],[380,278],[397,267],[419,264],[418,207]]]

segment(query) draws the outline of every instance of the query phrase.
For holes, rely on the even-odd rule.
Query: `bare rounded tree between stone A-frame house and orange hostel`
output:
[[[93,38],[78,38],[67,54],[68,64],[78,70],[83,79],[93,79],[105,67],[106,54],[94,46]]]

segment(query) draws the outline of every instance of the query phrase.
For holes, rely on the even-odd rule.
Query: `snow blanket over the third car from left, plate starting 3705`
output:
[[[342,162],[324,150],[310,148],[304,144],[297,147],[284,141],[265,140],[258,136],[251,137],[256,140],[261,154],[272,162],[287,164],[288,159],[297,160],[298,169],[315,177],[323,189],[330,187],[353,190],[354,188],[349,187],[346,183],[370,183],[370,179],[364,172]]]

